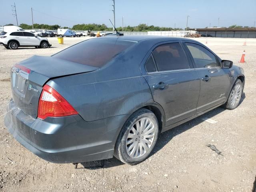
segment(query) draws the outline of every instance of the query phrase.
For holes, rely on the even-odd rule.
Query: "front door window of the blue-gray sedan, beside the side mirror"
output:
[[[220,62],[206,48],[194,43],[186,43],[186,46],[194,59],[196,68],[220,67]]]

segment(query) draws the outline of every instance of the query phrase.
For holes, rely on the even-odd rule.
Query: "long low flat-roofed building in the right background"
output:
[[[200,28],[195,30],[202,36],[230,37],[230,38],[256,38],[256,28]]]

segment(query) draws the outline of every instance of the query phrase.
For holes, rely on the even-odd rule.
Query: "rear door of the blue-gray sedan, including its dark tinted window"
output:
[[[169,126],[196,113],[200,91],[198,74],[180,41],[157,44],[146,56],[145,79]],[[143,72],[142,72],[143,73]]]

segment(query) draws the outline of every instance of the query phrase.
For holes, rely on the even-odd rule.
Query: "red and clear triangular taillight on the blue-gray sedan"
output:
[[[78,114],[76,110],[53,88],[43,87],[39,104],[38,118],[63,117]]]

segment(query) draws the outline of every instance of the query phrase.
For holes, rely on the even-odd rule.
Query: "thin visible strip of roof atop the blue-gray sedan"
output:
[[[134,41],[140,42],[144,40],[156,40],[161,41],[171,41],[171,40],[191,40],[187,38],[179,38],[179,37],[167,37],[167,36],[155,36],[155,35],[124,35],[124,36],[105,36],[100,38],[108,38],[108,39],[118,39],[118,40],[126,40],[126,41]],[[194,41],[194,40],[191,40]]]

